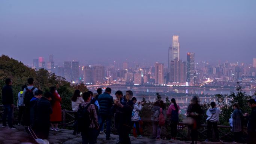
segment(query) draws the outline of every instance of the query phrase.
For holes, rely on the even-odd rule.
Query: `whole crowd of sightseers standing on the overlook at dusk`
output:
[[[18,93],[18,125],[24,125],[26,130],[30,127],[35,131],[37,137],[47,139],[49,131],[59,131],[58,123],[61,122],[61,96],[56,87],[51,87],[50,92],[43,93],[33,86],[33,78],[28,79],[28,85],[22,86]],[[129,134],[132,127],[133,134],[141,137],[141,119],[139,112],[143,103],[137,102],[132,91],[116,91],[116,99],[111,96],[112,89],[97,89],[97,94],[91,91],[80,92],[75,90],[71,97],[71,107],[75,112],[74,135],[82,135],[83,144],[97,143],[99,134],[105,134],[103,131],[106,122],[106,140],[110,140],[110,131],[112,118],[115,119],[115,128],[119,135],[117,144],[131,144]],[[6,79],[6,86],[2,88],[2,104],[4,105],[3,127],[6,127],[6,118],[8,117],[9,129],[16,129],[12,122],[13,113],[13,92],[12,80]],[[241,142],[243,131],[243,120],[248,120],[248,144],[254,144],[256,141],[256,100],[248,101],[252,108],[251,114],[242,113],[238,104],[234,104],[234,111],[231,114],[231,131],[234,132],[234,142]],[[217,123],[219,122],[220,109],[216,107],[215,102],[210,103],[211,108],[207,110],[207,140],[212,141],[212,130],[214,131],[215,141],[221,141]],[[171,99],[171,105],[166,108],[164,101],[153,102],[151,110],[152,138],[166,139],[167,125],[171,127],[171,139],[177,140],[177,125],[179,120],[180,107],[176,99]],[[184,123],[191,130],[192,144],[198,141],[198,129],[201,126],[202,115],[201,105],[198,98],[194,96],[191,104],[188,106],[187,118]]]

